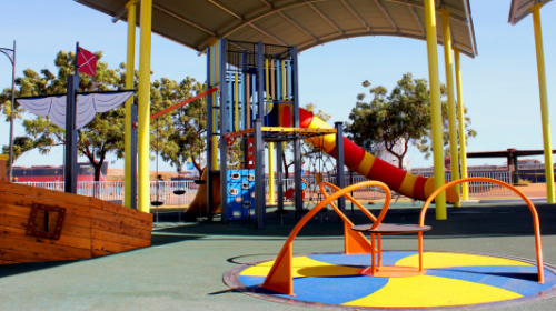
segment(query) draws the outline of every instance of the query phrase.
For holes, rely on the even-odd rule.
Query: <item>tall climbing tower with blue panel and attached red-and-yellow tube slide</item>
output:
[[[220,210],[225,223],[252,218],[256,227],[262,228],[266,198],[256,193],[266,193],[265,143],[268,143],[269,175],[274,175],[276,164],[278,175],[277,198],[274,178],[269,179],[269,201],[277,200],[278,213],[284,213],[282,162],[274,159],[275,152],[280,158],[282,142],[289,141],[294,144],[295,209],[302,213],[301,139],[336,159],[336,168],[339,168],[336,177],[340,188],[344,187],[342,168],[346,165],[348,170],[370,180],[383,181],[409,198],[424,201],[434,192],[434,178],[407,173],[374,157],[342,136],[341,122],[332,128],[312,112],[299,108],[297,47],[220,39],[207,50],[207,62],[208,88],[218,86],[218,94],[207,94],[208,151],[207,173],[203,177],[207,188],[206,192],[205,189],[198,191],[197,195],[200,197],[190,205],[188,213],[198,214],[203,210],[201,213],[210,218]],[[221,138],[219,143],[218,137]],[[235,144],[240,144],[240,161],[236,163],[239,170],[235,174],[237,179],[252,177],[249,180],[251,185],[230,185],[229,153]],[[214,175],[219,177],[215,179]],[[219,197],[215,191],[215,180],[218,179]],[[459,201],[454,188],[446,191],[446,197],[448,202]],[[242,212],[244,209],[248,211]],[[339,209],[345,211],[342,200]]]

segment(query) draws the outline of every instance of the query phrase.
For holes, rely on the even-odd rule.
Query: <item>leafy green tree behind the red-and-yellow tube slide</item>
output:
[[[369,81],[364,81],[365,88],[370,87]],[[370,88],[374,96],[370,102],[365,102],[365,93],[357,96],[356,107],[349,114],[350,122],[346,123],[346,132],[354,142],[369,151],[384,147],[388,153],[398,159],[398,168],[403,169],[403,160],[407,154],[409,144],[414,144],[430,157],[431,146],[431,117],[430,93],[426,79],[413,79],[411,73],[403,76],[388,94],[385,87]],[[446,87],[440,86],[443,98]],[[447,102],[443,101],[444,146],[448,144],[448,116]],[[466,120],[466,137],[475,137],[476,131],[468,129],[470,118]]]

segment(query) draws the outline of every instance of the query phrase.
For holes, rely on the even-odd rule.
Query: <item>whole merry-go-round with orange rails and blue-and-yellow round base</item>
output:
[[[533,262],[528,260],[490,254],[424,251],[423,232],[431,229],[425,225],[429,204],[445,189],[456,183],[471,181],[492,182],[512,189],[528,205],[533,215],[537,254],[536,284],[528,277],[534,268]],[[340,308],[341,305],[423,308],[475,304],[483,307],[484,303],[495,302],[496,305],[502,305],[500,303],[513,303],[520,298],[527,300],[542,298],[545,291],[556,285],[556,270],[543,262],[537,211],[532,201],[513,185],[486,178],[467,178],[447,183],[428,197],[420,211],[418,224],[383,223],[390,203],[389,199],[385,201],[379,215],[374,217],[349,195],[349,192],[365,187],[380,187],[386,193],[390,193],[386,184],[377,181],[360,182],[345,189],[326,182],[320,183],[320,190],[326,199],[297,223],[276,260],[246,263],[231,269],[225,274],[225,282],[245,293],[271,301],[289,301],[302,305],[325,303]],[[335,192],[328,193],[326,188]],[[334,203],[340,197],[353,201],[373,223],[354,225]],[[294,239],[309,219],[328,204],[344,220],[344,252],[312,253],[294,258]],[[370,243],[361,232],[370,234]],[[418,234],[417,252],[381,250],[381,234],[405,233]],[[480,269],[477,269],[478,267]],[[477,278],[476,273],[499,277],[492,280],[480,279],[481,277]],[[366,278],[361,279],[361,275]],[[341,278],[338,280],[330,277]],[[453,281],[446,281],[446,278]],[[298,290],[295,290],[295,284],[299,287]],[[358,284],[359,288],[353,284]],[[349,287],[350,292],[344,292],[341,290],[344,287]],[[529,290],[523,291],[525,288]],[[430,294],[431,289],[435,294]]]

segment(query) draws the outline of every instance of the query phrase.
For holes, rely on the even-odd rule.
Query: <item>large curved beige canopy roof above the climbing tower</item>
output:
[[[115,22],[127,20],[125,6],[128,0],[75,1],[113,17]],[[203,51],[216,38],[297,46],[299,51],[339,39],[364,36],[395,36],[426,40],[423,0],[152,0],[152,31],[197,51]],[[477,47],[468,0],[435,2],[439,43],[443,42],[439,11],[446,10],[451,13],[453,46],[463,53],[475,57]]]

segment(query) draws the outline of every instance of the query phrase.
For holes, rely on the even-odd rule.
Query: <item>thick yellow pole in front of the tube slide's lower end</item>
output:
[[[425,26],[427,30],[428,78],[430,82],[430,114],[433,126],[433,157],[435,162],[435,188],[444,185],[443,108],[438,78],[438,52],[436,48],[435,0],[425,0]],[[436,219],[447,218],[446,192],[436,197]]]

